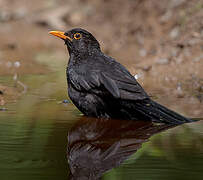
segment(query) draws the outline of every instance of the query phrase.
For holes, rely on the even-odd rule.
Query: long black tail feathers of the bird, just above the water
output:
[[[158,123],[182,124],[195,121],[167,109],[166,107],[152,100],[144,104],[136,103],[136,110],[144,114],[147,118],[151,118],[153,122]]]

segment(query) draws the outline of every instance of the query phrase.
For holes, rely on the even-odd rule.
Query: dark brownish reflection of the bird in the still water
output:
[[[148,121],[82,117],[68,133],[72,180],[97,180],[141,148],[152,135],[175,127]]]

